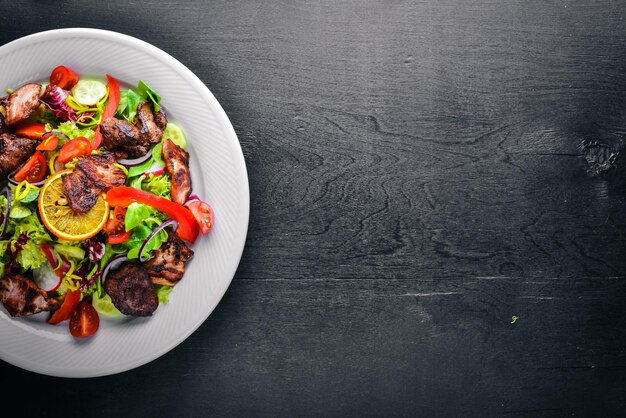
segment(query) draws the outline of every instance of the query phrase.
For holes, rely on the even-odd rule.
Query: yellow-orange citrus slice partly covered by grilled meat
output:
[[[82,241],[96,235],[109,219],[109,204],[104,195],[98,196],[96,204],[85,213],[74,212],[65,196],[64,170],[50,177],[39,192],[39,216],[43,224],[57,237],[67,241]]]

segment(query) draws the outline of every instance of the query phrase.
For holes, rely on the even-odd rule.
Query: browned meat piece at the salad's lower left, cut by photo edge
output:
[[[0,280],[0,302],[11,316],[28,316],[61,307],[58,300],[21,274],[9,274]]]

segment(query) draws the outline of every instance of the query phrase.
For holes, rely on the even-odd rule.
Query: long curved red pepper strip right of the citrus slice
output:
[[[196,242],[200,233],[196,218],[194,218],[189,209],[152,193],[135,189],[134,187],[119,186],[107,192],[106,200],[111,206],[128,207],[131,203],[138,202],[160,210],[178,222],[178,229],[176,230],[178,236],[192,244]]]

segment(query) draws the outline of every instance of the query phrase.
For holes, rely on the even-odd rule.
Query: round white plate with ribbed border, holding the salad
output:
[[[189,142],[193,192],[210,202],[216,222],[193,247],[182,281],[149,318],[101,320],[98,333],[75,340],[67,322],[44,322],[47,313],[11,318],[0,308],[0,358],[52,376],[95,377],[123,372],[165,354],[191,335],[228,288],[243,251],[250,207],[239,141],[224,110],[188,68],[139,39],[96,29],[60,29],[0,47],[0,91],[45,80],[57,65],[79,74],[106,73],[137,85],[145,80],[162,97],[168,116]]]

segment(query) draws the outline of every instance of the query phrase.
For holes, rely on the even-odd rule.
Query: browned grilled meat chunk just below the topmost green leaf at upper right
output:
[[[140,103],[134,124],[115,117],[107,118],[100,124],[102,146],[108,150],[121,148],[130,157],[141,157],[161,141],[166,125],[163,112],[153,112],[149,102]]]

